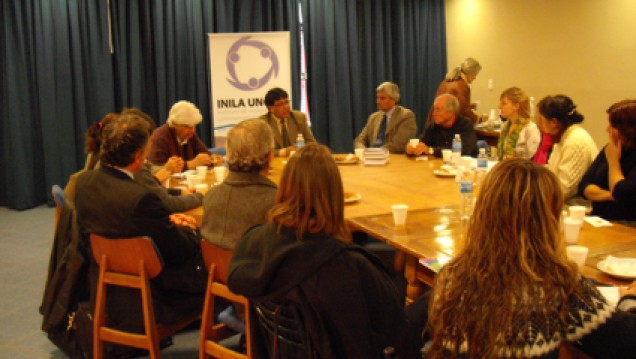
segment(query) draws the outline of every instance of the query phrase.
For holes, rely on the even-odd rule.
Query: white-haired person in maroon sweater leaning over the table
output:
[[[193,103],[175,103],[166,124],[155,131],[148,160],[153,165],[163,166],[170,157],[178,156],[184,161],[182,170],[222,163],[223,159],[213,155],[197,136],[195,127],[202,119],[201,111]]]

